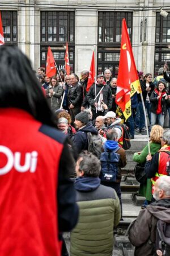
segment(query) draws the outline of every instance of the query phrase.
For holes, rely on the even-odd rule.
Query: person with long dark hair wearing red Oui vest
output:
[[[78,218],[73,156],[18,47],[0,47],[0,70],[0,255],[59,256]]]

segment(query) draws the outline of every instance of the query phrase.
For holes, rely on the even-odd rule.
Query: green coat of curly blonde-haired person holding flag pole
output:
[[[160,144],[155,142],[150,142],[151,155],[154,155],[156,152],[158,152],[160,148],[161,148]],[[138,153],[134,153],[133,161],[137,163],[145,163],[147,155],[148,155],[148,144],[145,146],[145,148],[143,148],[140,155],[138,155]],[[139,195],[145,196],[146,200],[151,201],[152,199],[151,179],[147,179],[146,184],[140,184]]]

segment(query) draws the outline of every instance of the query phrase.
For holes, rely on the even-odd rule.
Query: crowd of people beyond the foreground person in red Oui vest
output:
[[[82,78],[79,79],[75,73],[71,73],[70,76],[65,77],[65,81],[62,81],[60,77],[58,84],[55,85],[53,84],[55,77],[52,77],[52,82],[49,82],[46,88],[46,97],[56,115],[57,127],[70,138],[70,148],[76,160],[76,173],[71,174],[71,177],[76,177],[75,189],[76,201],[79,205],[79,221],[71,232],[71,256],[112,255],[113,228],[120,220],[123,220],[120,183],[121,168],[124,168],[127,163],[125,150],[127,148],[124,147],[125,127],[129,130],[129,139],[134,139],[135,131],[139,134],[146,131],[140,95],[135,93],[131,97],[131,117],[124,122],[124,115],[115,102],[116,77],[112,78],[111,71],[106,69],[104,75],[97,75],[96,84],[91,85],[87,91],[88,75],[89,72],[84,70],[81,73]],[[64,79],[63,72],[61,76]],[[167,173],[167,163],[170,163],[170,130],[163,129],[167,110],[170,113],[167,83],[170,78],[167,75],[167,64],[159,69],[159,74],[154,79],[151,73],[143,75],[143,72],[138,72],[138,76],[150,132],[150,152],[146,144],[141,152],[136,152],[133,156],[134,162],[143,168],[141,170],[145,170],[145,183],[141,183],[139,187],[139,195],[146,199],[142,209],[145,211],[151,205],[152,211],[155,209],[156,212],[158,205],[154,203],[155,199],[162,200],[160,203],[162,211],[169,214],[170,189],[167,191],[166,184],[170,181],[169,173]],[[42,86],[44,87],[43,83]],[[63,104],[61,104],[61,94],[57,94],[59,88],[63,89]],[[53,97],[56,98],[53,99]],[[57,108],[54,107],[54,101],[59,102],[58,106],[56,105]],[[126,126],[122,126],[122,123]],[[95,147],[100,147],[100,154],[92,150],[91,144],[94,143],[92,137],[96,140]],[[166,177],[162,177],[162,181],[158,182],[159,176]],[[163,197],[154,192],[155,184],[160,186],[160,190],[163,189]],[[148,213],[143,214],[146,214],[146,218],[151,218],[147,216]],[[156,213],[154,216],[158,218]],[[153,218],[155,220],[155,217]],[[133,222],[129,231],[129,239],[136,246],[135,255],[143,255],[142,250],[143,247],[145,248],[143,246],[145,234],[141,240],[135,239],[139,224],[141,224],[141,219]],[[141,232],[145,233],[146,230],[141,228]],[[152,246],[148,250],[149,253],[145,251],[145,255],[154,255],[155,237],[148,232],[149,236],[151,236]],[[106,243],[107,246],[105,246]]]

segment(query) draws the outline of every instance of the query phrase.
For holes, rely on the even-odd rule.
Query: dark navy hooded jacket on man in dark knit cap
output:
[[[98,134],[92,123],[87,123],[86,126],[80,128],[73,137],[73,147],[77,154],[82,150],[88,150],[87,133]]]

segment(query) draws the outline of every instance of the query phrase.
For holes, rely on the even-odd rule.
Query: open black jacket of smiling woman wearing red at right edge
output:
[[[170,104],[169,98],[167,100],[165,100],[165,96],[167,96],[167,94],[164,94],[164,96],[162,97],[162,100],[161,100],[162,113],[164,115],[167,114],[167,107]],[[152,92],[151,97],[150,97],[150,102],[151,102],[150,111],[155,114],[156,114],[156,109],[158,108],[158,101],[159,101],[157,97],[158,97],[158,93],[156,93],[154,90],[154,92]]]

